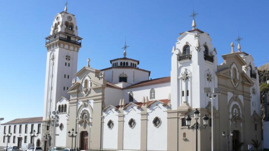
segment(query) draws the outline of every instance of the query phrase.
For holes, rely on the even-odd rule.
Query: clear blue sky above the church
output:
[[[0,117],[42,116],[46,68],[45,37],[53,17],[64,10],[65,0],[1,1],[0,9]],[[91,67],[103,69],[109,60],[123,56],[140,60],[139,68],[151,78],[170,75],[171,49],[179,33],[191,29],[193,11],[197,27],[210,34],[213,47],[222,54],[238,36],[242,51],[253,56],[256,66],[268,58],[269,1],[182,0],[69,0],[68,12],[76,15],[79,36],[78,70],[90,57]],[[3,121],[2,121],[3,123]]]

